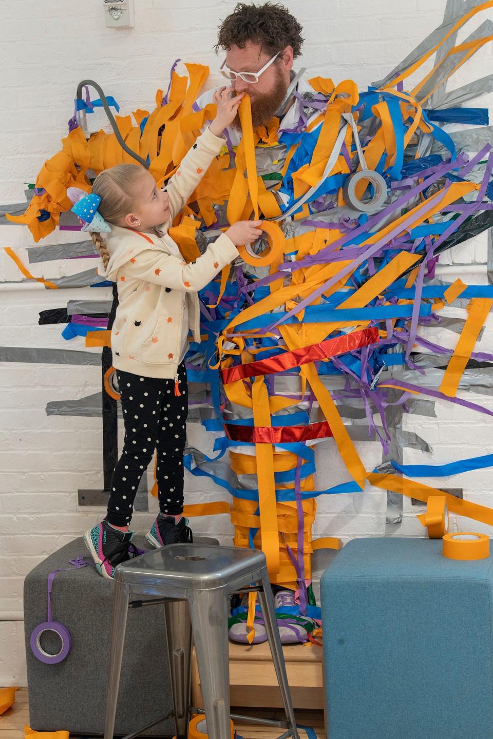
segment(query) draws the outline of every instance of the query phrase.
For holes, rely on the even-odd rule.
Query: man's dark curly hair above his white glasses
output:
[[[280,3],[256,5],[240,2],[234,13],[222,21],[215,48],[217,52],[220,49],[229,50],[232,45],[244,49],[246,42],[251,41],[273,55],[291,46],[296,59],[302,52],[305,40],[302,30],[302,25]]]

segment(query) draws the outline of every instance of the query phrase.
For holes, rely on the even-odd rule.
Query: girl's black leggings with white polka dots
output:
[[[183,449],[186,443],[188,394],[185,363],[178,367],[180,395],[174,380],[140,377],[117,370],[125,442],[112,477],[108,521],[125,526],[132,519],[140,477],[157,449],[157,487],[163,514],[183,511]]]

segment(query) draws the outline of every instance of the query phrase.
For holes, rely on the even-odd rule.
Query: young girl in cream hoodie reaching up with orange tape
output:
[[[222,131],[234,120],[242,98],[229,99],[231,92],[217,91],[216,118],[166,188],[158,189],[146,169],[123,164],[98,175],[92,193],[74,205],[89,222],[84,228],[93,232],[101,253],[99,273],[118,285],[112,352],[125,441],[113,472],[106,518],[84,534],[104,577],[112,577],[116,565],[136,554],[135,547],[129,547],[129,523],[140,477],[154,449],[160,514],[146,539],[154,547],[191,541],[182,517],[188,330],[200,341],[197,291],[238,256],[237,245],[253,241],[262,231],[259,221],[237,222],[187,265],[168,228],[223,146]]]

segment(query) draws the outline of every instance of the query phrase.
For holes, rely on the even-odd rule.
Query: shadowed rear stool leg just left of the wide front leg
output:
[[[188,736],[190,721],[191,621],[187,601],[164,605],[176,739]]]

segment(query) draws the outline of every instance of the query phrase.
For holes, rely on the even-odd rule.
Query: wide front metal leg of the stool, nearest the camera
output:
[[[223,588],[188,595],[208,739],[231,739],[228,594]]]

